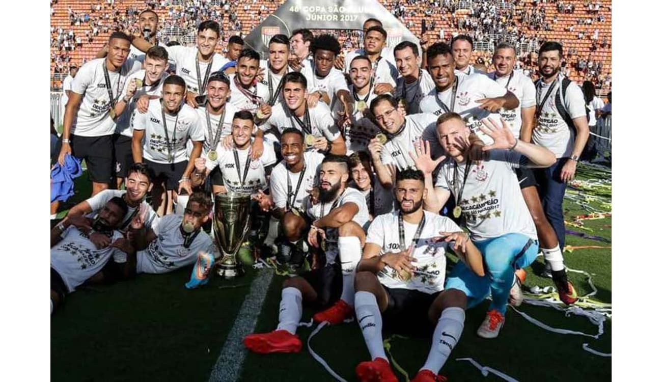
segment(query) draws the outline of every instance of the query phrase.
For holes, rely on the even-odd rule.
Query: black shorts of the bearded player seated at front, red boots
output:
[[[428,310],[440,292],[389,288],[382,285],[389,299],[386,310],[381,314],[385,328],[401,332],[404,328],[426,331],[432,328]]]

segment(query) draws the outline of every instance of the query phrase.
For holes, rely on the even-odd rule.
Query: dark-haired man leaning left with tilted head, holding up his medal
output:
[[[414,167],[414,162],[407,153],[414,151],[414,142],[420,138],[432,142],[433,156],[442,154],[436,139],[437,119],[434,115],[420,113],[405,117],[398,108],[396,99],[389,94],[378,95],[373,99],[370,111],[388,139],[383,144],[378,138],[373,138],[368,145],[377,179],[384,187],[392,187],[396,169]]]

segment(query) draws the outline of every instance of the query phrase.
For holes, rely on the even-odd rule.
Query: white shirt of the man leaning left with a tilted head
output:
[[[415,168],[409,153],[416,153],[414,143],[420,138],[430,142],[432,158],[438,158],[444,150],[437,139],[437,117],[430,113],[412,114],[404,117],[404,128],[397,136],[390,138],[381,150],[381,162],[393,164],[397,169]]]

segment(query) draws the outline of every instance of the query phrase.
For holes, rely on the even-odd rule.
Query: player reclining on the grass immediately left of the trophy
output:
[[[136,253],[136,273],[166,273],[195,263],[199,252],[213,253],[213,243],[201,229],[209,220],[212,201],[209,195],[196,192],[189,196],[184,215],[167,215],[151,228],[138,215],[130,229]]]

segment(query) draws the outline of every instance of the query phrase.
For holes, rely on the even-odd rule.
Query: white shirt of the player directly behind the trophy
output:
[[[273,151],[273,145],[265,144],[264,152],[256,160],[250,159],[250,148],[236,150],[239,163],[234,157],[235,150],[226,150],[222,143],[218,144],[216,150],[218,150],[218,158],[216,160],[205,158],[207,159],[205,166],[210,171],[216,166],[220,168],[223,175],[223,185],[228,191],[254,194],[258,190],[267,189],[265,167],[273,166],[276,163],[276,153]],[[245,179],[244,173],[246,174]],[[242,179],[244,179],[243,183]]]

